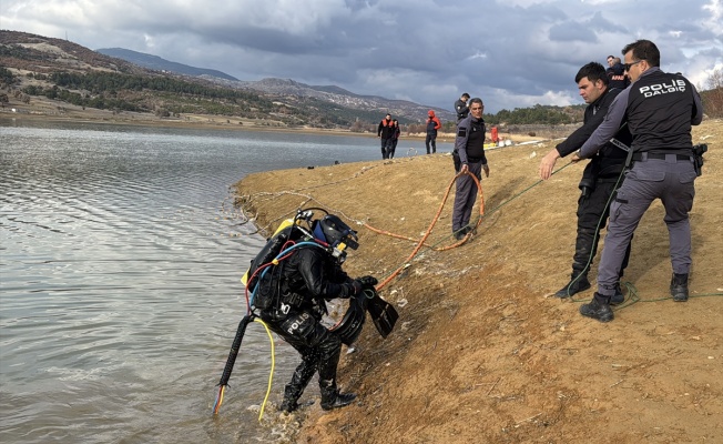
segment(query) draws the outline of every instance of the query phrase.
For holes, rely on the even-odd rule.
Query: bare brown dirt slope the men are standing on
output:
[[[694,296],[688,303],[668,297],[660,203],[635,233],[625,278],[637,294],[613,322],[582,317],[580,301],[550,297],[569,278],[583,165],[538,183],[540,158],[553,143],[492,150],[477,234],[437,251],[452,243],[450,195],[427,240],[437,250],[424,248],[383,289],[398,305],[396,331],[385,341],[369,323],[357,353],[343,354],[340,384],[359,402],[334,412],[318,403],[305,408],[296,440],[723,442],[723,122],[704,122],[694,141],[710,151],[691,214]],[[298,206],[322,205],[418,240],[452,176],[451,158],[436,154],[253,174],[238,194],[259,226],[275,228]],[[416,246],[356,226],[360,248],[346,264],[352,275],[386,278]]]

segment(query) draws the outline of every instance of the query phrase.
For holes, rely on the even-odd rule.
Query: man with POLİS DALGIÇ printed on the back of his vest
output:
[[[622,50],[632,84],[610,105],[605,120],[580,149],[577,159],[593,155],[614,135],[623,119],[632,133],[632,168],[610,209],[610,226],[598,268],[598,292],[580,306],[583,316],[601,322],[613,319],[614,294],[625,250],[640,219],[660,199],[665,209],[673,275],[670,294],[688,301],[691,268],[689,212],[695,195],[691,125],[703,119],[701,98],[681,74],[660,69],[660,51],[649,40],[638,40]]]

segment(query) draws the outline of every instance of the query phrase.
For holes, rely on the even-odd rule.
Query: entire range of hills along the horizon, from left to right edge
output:
[[[427,110],[432,108],[291,79],[240,81],[220,71],[125,49],[99,51],[105,53],[67,40],[0,31],[0,105],[60,118],[371,134],[387,112],[399,119],[407,134],[424,133]],[[723,87],[712,84],[702,97],[705,112],[721,117]],[[93,115],[91,109],[101,112]],[[583,110],[582,104],[537,104],[485,114],[485,119],[508,133],[566,135],[569,128],[562,125],[579,124]],[[454,132],[455,114],[436,111],[442,131]]]

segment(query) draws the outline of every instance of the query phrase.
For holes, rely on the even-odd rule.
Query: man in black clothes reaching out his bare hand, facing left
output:
[[[559,143],[540,162],[540,178],[547,180],[552,174],[554,163],[559,158],[579,150],[592,132],[602,123],[610,103],[620,93],[619,89],[610,89],[608,75],[602,64],[590,62],[580,68],[574,78],[580,95],[588,103],[584,111],[583,125],[577,129],[569,138]],[[632,137],[628,127],[624,125],[615,134],[615,139],[623,145],[630,145]],[[573,294],[588,290],[589,263],[598,252],[598,230],[604,226],[610,214],[610,195],[617,190],[621,182],[621,173],[625,164],[628,152],[618,148],[612,142],[605,142],[597,155],[585,165],[580,181],[581,195],[578,200],[578,238],[574,243],[574,255],[572,256],[572,276],[570,283],[560,289],[554,295],[557,297],[570,297]],[[625,250],[625,256],[620,269],[620,278],[628,266],[630,245]],[[624,301],[620,283],[615,283],[615,292],[611,303],[620,304]]]

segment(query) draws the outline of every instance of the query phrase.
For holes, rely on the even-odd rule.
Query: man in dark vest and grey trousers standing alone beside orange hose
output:
[[[455,138],[455,170],[458,172],[469,171],[478,180],[482,180],[482,170],[485,170],[485,176],[489,178],[489,167],[485,155],[483,111],[482,99],[471,99],[469,115],[457,125],[457,137]],[[475,180],[467,174],[461,174],[457,178],[452,210],[452,233],[457,240],[461,240],[472,230],[469,226],[469,219],[472,215],[476,200],[477,184]]]

